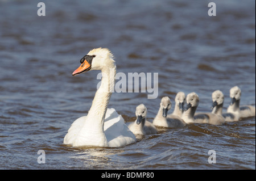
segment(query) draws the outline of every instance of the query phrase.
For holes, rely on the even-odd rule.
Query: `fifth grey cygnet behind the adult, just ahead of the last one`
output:
[[[220,90],[212,92],[212,113],[224,117],[225,122],[238,121],[233,113],[222,113],[224,94]]]

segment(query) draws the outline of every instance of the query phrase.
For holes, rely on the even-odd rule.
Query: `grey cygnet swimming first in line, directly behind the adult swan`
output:
[[[147,108],[144,104],[140,104],[136,108],[136,117],[135,122],[128,125],[128,128],[134,134],[156,134],[155,126],[146,120],[147,117]]]

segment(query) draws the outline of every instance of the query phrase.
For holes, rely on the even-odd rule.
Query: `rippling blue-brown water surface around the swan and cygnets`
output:
[[[224,125],[159,128],[121,148],[63,145],[70,125],[89,110],[98,71],[72,77],[79,60],[97,47],[114,53],[117,72],[158,73],[158,98],[148,92],[110,99],[124,119],[145,104],[148,120],[160,98],[195,91],[198,111],[211,94],[240,86],[241,104],[255,106],[255,2],[208,1],[0,1],[1,169],[255,169],[255,117]],[[173,107],[170,112],[173,111]],[[46,152],[39,164],[38,150]],[[208,163],[208,151],[216,163]]]

